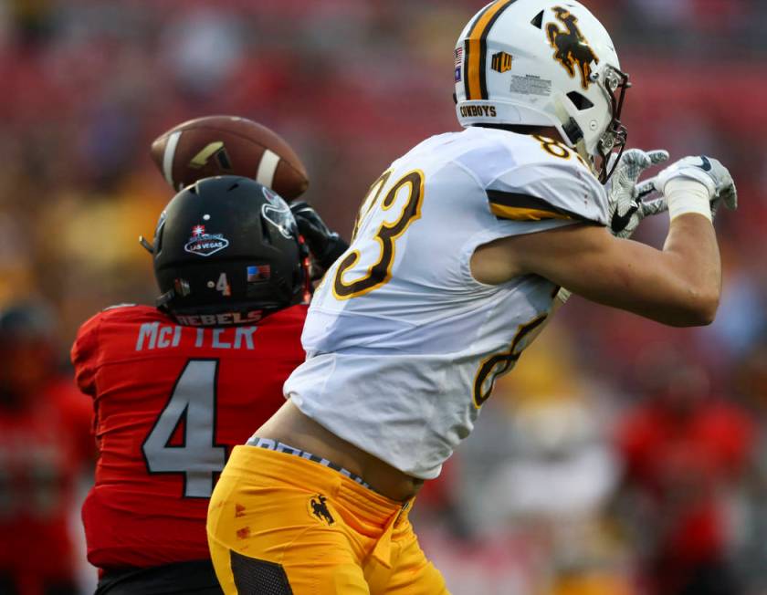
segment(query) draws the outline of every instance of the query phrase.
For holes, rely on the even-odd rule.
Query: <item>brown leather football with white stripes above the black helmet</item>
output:
[[[152,142],[152,161],[174,191],[201,178],[241,175],[292,200],[309,185],[306,168],[286,141],[266,126],[236,116],[179,124]]]

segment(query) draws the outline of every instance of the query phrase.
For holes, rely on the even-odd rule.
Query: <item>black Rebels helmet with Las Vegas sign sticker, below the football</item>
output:
[[[151,252],[157,307],[184,325],[253,323],[306,293],[308,252],[289,206],[249,178],[205,178],[176,194]]]

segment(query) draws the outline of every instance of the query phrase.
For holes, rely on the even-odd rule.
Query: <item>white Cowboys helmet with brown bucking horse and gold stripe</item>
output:
[[[456,46],[462,126],[553,126],[609,178],[623,151],[628,75],[604,26],[574,0],[496,0],[472,17]],[[615,160],[617,163],[617,160]]]

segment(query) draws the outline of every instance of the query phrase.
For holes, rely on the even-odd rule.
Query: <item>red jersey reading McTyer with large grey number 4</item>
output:
[[[72,347],[94,399],[99,461],[82,509],[88,559],[100,569],[208,558],[205,515],[236,444],[285,402],[304,360],[306,306],[257,326],[183,327],[156,308],[110,308]]]

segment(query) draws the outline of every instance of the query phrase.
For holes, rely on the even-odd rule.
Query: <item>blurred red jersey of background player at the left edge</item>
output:
[[[71,379],[17,410],[0,408],[0,575],[13,575],[23,593],[74,578],[69,511],[93,456],[91,417]]]

